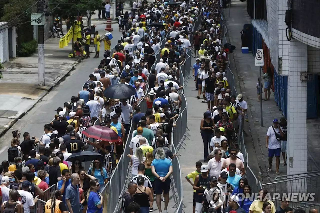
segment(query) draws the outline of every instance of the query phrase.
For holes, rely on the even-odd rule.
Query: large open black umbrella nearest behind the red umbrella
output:
[[[114,84],[103,92],[103,95],[110,99],[128,99],[136,94],[136,90],[127,84]]]

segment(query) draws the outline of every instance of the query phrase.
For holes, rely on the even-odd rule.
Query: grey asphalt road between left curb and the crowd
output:
[[[102,25],[100,27],[102,28]],[[114,28],[112,46],[114,46],[117,42],[116,38],[120,38],[122,32],[119,32],[119,28],[116,25],[112,25],[112,27]],[[101,48],[104,48],[103,44]],[[21,132],[21,142],[23,141],[24,132],[29,132],[31,137],[35,136],[40,139],[44,133],[44,125],[54,119],[56,114],[54,110],[58,107],[63,107],[65,102],[71,101],[72,96],[77,96],[78,92],[82,90],[84,82],[89,79],[89,75],[92,74],[94,68],[98,67],[100,60],[103,59],[103,54],[100,54],[100,59],[94,59],[93,56],[94,53],[92,53],[90,59],[85,59],[78,64],[76,69],[65,77],[64,81],[56,85],[52,91],[44,96],[42,101],[37,103],[33,109],[0,138],[0,162],[8,160],[7,150],[11,146],[12,131],[19,130]]]

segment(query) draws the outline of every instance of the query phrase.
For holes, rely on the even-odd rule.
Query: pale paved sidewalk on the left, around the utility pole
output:
[[[117,24],[113,24],[113,36],[120,37]],[[66,26],[63,25],[64,32]],[[98,25],[100,35],[105,34],[104,25]],[[56,84],[59,84],[78,64],[76,59],[68,58],[72,52],[71,42],[63,49],[59,48],[59,38],[49,38],[45,41],[45,87],[37,86],[38,83],[38,54],[30,57],[12,59],[4,63],[4,79],[0,84],[0,137],[12,127],[12,125],[24,116],[36,103],[51,91]],[[112,40],[112,45],[116,44]],[[102,44],[101,48],[104,46]],[[90,49],[94,52],[93,45]],[[94,54],[94,53],[93,53]],[[103,55],[102,55],[103,57]],[[100,55],[100,59],[102,59]],[[85,59],[86,61],[88,59]],[[98,59],[95,59],[98,60]],[[98,62],[97,62],[98,63]],[[92,72],[93,72],[92,67]]]

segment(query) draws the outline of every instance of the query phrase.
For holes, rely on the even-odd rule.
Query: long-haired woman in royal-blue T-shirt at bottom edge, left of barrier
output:
[[[90,182],[90,189],[87,193],[88,209],[87,213],[102,213],[103,211],[103,197],[98,194],[100,184],[96,180]]]

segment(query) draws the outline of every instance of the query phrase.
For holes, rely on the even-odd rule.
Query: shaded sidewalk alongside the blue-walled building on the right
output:
[[[283,116],[276,106],[274,93],[271,92],[270,101],[263,101],[263,127],[260,120],[260,102],[258,102],[256,85],[260,77],[260,68],[254,64],[252,53],[242,54],[241,52],[241,34],[244,24],[251,23],[251,19],[247,14],[247,4],[240,1],[232,1],[230,17],[229,8],[225,11],[227,19],[228,34],[227,39],[232,45],[236,46],[233,55],[230,55],[230,69],[236,77],[236,89],[238,93],[242,93],[244,100],[248,103],[249,125],[245,123],[244,130],[249,134],[245,137],[245,145],[249,155],[249,166],[259,179],[261,177],[263,183],[273,182],[276,177],[276,160],[272,163],[272,172],[267,172],[268,149],[266,148],[266,135],[268,128],[272,125],[273,119]],[[263,75],[263,73],[261,73]],[[264,93],[262,94],[264,98]],[[251,131],[251,133],[250,133]],[[257,158],[257,161],[254,159]],[[281,175],[286,175],[286,166],[283,166],[283,158],[280,157]],[[254,169],[253,169],[254,168]]]

